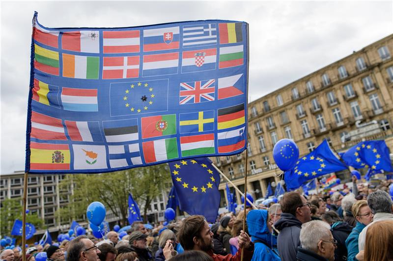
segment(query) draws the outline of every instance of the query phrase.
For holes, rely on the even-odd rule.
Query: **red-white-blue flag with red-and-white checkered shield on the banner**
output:
[[[216,48],[183,51],[181,72],[215,70],[216,59]]]

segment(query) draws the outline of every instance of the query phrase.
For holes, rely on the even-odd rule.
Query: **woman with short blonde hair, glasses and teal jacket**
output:
[[[366,200],[355,202],[352,206],[352,214],[356,219],[356,226],[345,240],[345,246],[348,250],[347,261],[357,261],[356,255],[359,253],[359,234],[365,226],[371,223],[373,217]]]

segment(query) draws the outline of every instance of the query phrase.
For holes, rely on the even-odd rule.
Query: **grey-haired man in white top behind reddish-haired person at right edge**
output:
[[[369,194],[367,204],[374,214],[374,220],[359,234],[359,252],[365,250],[365,233],[369,226],[381,220],[391,220],[393,225],[393,201],[386,191],[377,190]]]

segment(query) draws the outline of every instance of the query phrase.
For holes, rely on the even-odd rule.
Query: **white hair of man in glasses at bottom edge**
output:
[[[322,220],[312,220],[304,223],[300,230],[300,243],[306,250],[316,252],[318,249],[318,242],[323,237],[330,237],[330,226]]]

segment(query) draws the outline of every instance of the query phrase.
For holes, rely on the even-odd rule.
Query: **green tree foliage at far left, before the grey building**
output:
[[[2,236],[10,235],[15,219],[22,220],[23,206],[21,202],[22,198],[7,198],[1,201],[0,234]],[[36,230],[45,228],[44,220],[42,220],[36,213],[26,214],[26,222],[33,224]]]

